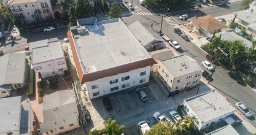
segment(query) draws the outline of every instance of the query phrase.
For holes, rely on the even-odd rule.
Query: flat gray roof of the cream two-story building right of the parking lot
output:
[[[166,69],[173,75],[173,77],[188,74],[194,71],[203,72],[200,65],[187,55],[175,56],[166,60],[162,60],[161,63]]]

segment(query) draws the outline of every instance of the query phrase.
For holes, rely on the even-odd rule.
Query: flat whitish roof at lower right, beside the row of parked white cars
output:
[[[235,108],[218,91],[213,90],[184,100],[202,122],[235,112]]]

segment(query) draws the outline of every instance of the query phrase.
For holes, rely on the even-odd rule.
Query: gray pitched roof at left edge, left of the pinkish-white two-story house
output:
[[[0,86],[24,82],[25,53],[8,53],[0,57]]]

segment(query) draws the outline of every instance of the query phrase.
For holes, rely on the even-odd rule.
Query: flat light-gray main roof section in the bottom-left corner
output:
[[[0,134],[19,131],[21,96],[0,99]]]

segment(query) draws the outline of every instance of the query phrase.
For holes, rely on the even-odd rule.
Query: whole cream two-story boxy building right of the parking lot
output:
[[[203,69],[187,55],[158,61],[158,79],[169,93],[182,91],[199,84]]]

